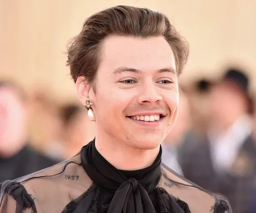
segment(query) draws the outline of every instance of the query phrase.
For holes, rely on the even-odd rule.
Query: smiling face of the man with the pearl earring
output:
[[[96,135],[156,148],[173,126],[179,102],[171,47],[163,37],[109,36],[101,54],[96,95],[89,92]]]

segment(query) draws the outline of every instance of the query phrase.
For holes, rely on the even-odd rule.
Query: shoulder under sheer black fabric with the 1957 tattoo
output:
[[[62,212],[71,200],[83,194],[91,184],[91,179],[81,166],[80,155],[77,155],[47,169],[3,182],[0,185],[0,209],[13,208],[15,204],[29,209],[29,212],[33,207],[37,212],[45,212],[46,206]],[[13,211],[0,211],[2,212]],[[17,213],[23,212],[26,211]]]

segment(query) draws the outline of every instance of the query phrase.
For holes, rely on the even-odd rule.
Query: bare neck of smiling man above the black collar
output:
[[[97,151],[120,170],[139,170],[151,166],[159,154],[160,146],[151,150],[136,149],[113,137],[96,135]]]

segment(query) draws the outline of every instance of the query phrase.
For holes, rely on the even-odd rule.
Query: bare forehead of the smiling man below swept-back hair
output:
[[[108,36],[102,45],[100,67],[115,69],[131,67],[140,70],[156,70],[165,67],[175,69],[172,49],[164,37],[136,38]]]

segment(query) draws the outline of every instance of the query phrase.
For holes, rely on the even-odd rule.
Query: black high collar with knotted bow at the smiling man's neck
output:
[[[108,213],[156,213],[148,192],[161,177],[161,150],[154,167],[142,179],[127,178],[96,150],[94,141],[81,150],[82,166],[94,184],[113,191]]]

